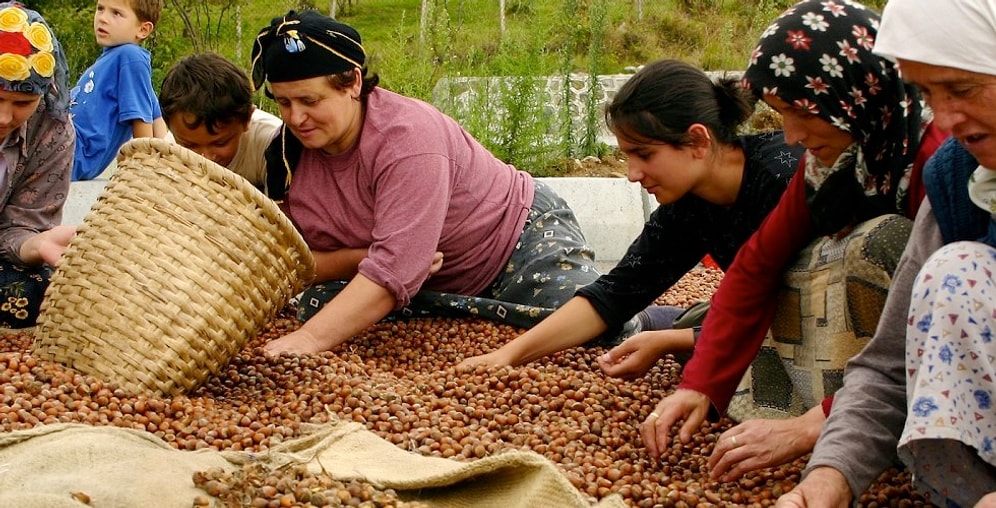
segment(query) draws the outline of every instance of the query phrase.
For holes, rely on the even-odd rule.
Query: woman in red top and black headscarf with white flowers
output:
[[[752,53],[746,86],[781,113],[786,140],[804,146],[806,154],[781,201],[724,274],[677,390],[643,423],[644,444],[653,456],[669,448],[672,428],[679,422],[678,438],[687,443],[707,417],[726,412],[771,327],[775,296],[794,259],[817,259],[822,251],[807,249],[831,237],[841,248],[863,242],[858,252],[870,258],[870,264],[888,275],[895,268],[911,223],[894,214],[915,215],[922,199],[922,186],[917,185],[921,168],[945,135],[929,124],[919,95],[903,83],[897,68],[872,54],[877,27],[878,15],[858,3],[804,0],[765,30]],[[875,226],[863,234],[861,225],[871,220]],[[845,264],[848,277],[860,275],[847,269]],[[810,280],[816,286],[819,274],[814,271]],[[814,301],[819,302],[819,296]],[[834,300],[824,303],[833,305]],[[822,311],[817,307],[812,306]],[[866,319],[871,322],[870,337],[880,307],[844,301],[821,315],[845,319],[853,316],[852,307],[865,314],[876,311],[874,319]],[[834,347],[813,344],[812,330],[800,327],[801,336],[783,340],[775,334],[774,340],[792,351]],[[855,335],[835,336],[831,342],[857,343],[862,337]],[[775,360],[779,367],[786,362]],[[846,357],[840,361],[833,371],[810,371],[829,391],[821,394],[822,404],[817,400],[796,418],[751,419],[726,431],[709,460],[712,476],[731,481],[811,451],[833,390],[839,388],[839,381],[835,388],[825,381],[839,376],[837,369]],[[789,376],[784,386],[764,374],[755,368],[754,379],[759,386],[775,385],[767,394],[772,397],[812,386],[797,387]]]

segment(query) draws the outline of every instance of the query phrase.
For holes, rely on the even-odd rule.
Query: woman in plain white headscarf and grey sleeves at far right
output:
[[[970,43],[969,43],[970,41]],[[996,506],[996,6],[890,0],[895,58],[953,139],[868,346],[847,365],[804,479],[777,506],[850,506],[897,458],[937,506]]]

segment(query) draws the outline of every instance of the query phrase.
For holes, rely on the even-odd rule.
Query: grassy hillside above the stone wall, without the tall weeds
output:
[[[587,72],[594,44],[602,46],[595,69],[599,73],[623,72],[665,57],[707,70],[739,69],[767,23],[791,4],[790,0],[642,0],[642,18],[638,18],[634,4],[641,0],[573,0],[577,6],[573,16],[564,13],[567,1],[506,0],[504,34],[499,30],[496,0],[428,0],[435,14],[425,34],[419,30],[421,0],[353,0],[351,6],[338,9],[337,17],[361,33],[370,67],[381,75],[385,87],[429,99],[435,81],[444,76],[559,74],[565,51],[575,71]],[[236,37],[234,13],[239,4],[242,31]],[[328,12],[328,4],[329,0],[282,6],[261,0],[168,0],[152,48],[156,65],[165,69],[189,52],[178,44],[190,39],[177,15],[179,7],[224,10],[225,19],[219,20],[218,14],[200,17],[200,31],[218,34],[203,49],[248,67],[252,40],[272,17],[308,6]],[[592,14],[601,17],[597,27],[588,26]],[[578,43],[572,47],[569,38],[574,32]],[[601,40],[592,40],[593,32]]]

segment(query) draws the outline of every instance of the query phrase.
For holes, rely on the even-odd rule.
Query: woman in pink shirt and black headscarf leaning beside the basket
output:
[[[252,57],[285,124],[282,207],[320,283],[268,353],[325,351],[392,312],[530,326],[597,277],[566,202],[431,105],[379,88],[353,28],[291,11]]]

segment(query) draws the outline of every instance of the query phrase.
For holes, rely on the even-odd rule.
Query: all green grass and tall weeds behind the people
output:
[[[178,58],[217,51],[249,67],[259,29],[288,9],[315,8],[359,30],[368,65],[385,88],[433,101],[441,78],[506,76],[487,95],[453,114],[503,160],[538,174],[565,157],[600,155],[598,74],[616,74],[659,58],[706,70],[742,69],[757,37],[794,0],[163,0],[146,47],[153,80]],[[71,80],[96,59],[92,0],[27,2],[53,25],[70,60]],[[885,0],[866,3],[881,8]],[[425,10],[423,12],[423,5]],[[502,30],[504,26],[504,30]],[[547,76],[586,73],[583,110],[548,111]],[[538,78],[543,79],[538,79]],[[259,104],[276,111],[262,94]],[[577,127],[580,121],[582,127]]]

